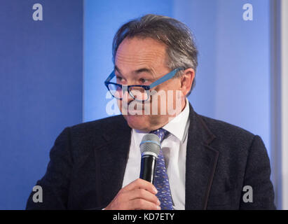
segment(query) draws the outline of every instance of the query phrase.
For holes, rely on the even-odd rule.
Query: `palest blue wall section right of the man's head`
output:
[[[252,21],[242,19],[245,3]],[[175,0],[173,9],[200,51],[194,109],[259,134],[270,153],[269,0]]]

